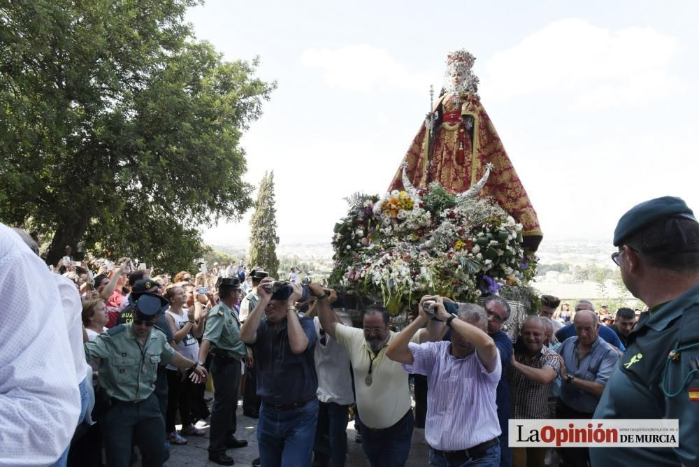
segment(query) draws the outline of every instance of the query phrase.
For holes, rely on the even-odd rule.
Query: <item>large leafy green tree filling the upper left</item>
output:
[[[0,220],[167,271],[252,206],[239,141],[275,83],[184,22],[194,0],[0,2]]]

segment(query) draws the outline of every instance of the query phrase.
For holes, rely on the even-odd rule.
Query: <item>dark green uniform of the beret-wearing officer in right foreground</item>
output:
[[[592,466],[699,466],[699,286],[636,324],[594,418],[679,419],[679,447],[591,447]]]

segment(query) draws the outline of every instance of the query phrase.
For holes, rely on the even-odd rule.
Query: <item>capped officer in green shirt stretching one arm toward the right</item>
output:
[[[153,330],[157,315],[167,307],[161,296],[141,294],[134,303],[133,322],[119,324],[85,343],[87,359],[100,359],[99,385],[109,406],[100,420],[107,466],[131,465],[132,440],[143,456],[143,466],[162,466],[165,420],[153,394],[159,364],[187,369],[194,382],[206,378],[203,367],[175,352],[165,335]]]

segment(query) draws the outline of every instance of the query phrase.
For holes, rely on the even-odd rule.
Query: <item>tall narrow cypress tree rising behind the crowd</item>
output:
[[[279,237],[274,203],[274,171],[265,172],[255,202],[255,213],[250,220],[250,254],[247,261],[251,266],[259,266],[273,278],[277,278]]]

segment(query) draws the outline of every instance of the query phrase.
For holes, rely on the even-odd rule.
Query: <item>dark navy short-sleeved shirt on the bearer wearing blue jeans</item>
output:
[[[286,405],[315,396],[318,376],[313,352],[317,335],[313,320],[298,318],[308,336],[308,347],[301,354],[291,352],[287,322],[278,331],[262,320],[257,327],[257,340],[251,346],[257,366],[257,395],[266,403]]]

